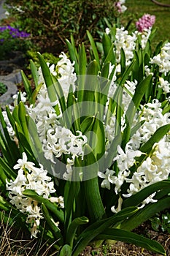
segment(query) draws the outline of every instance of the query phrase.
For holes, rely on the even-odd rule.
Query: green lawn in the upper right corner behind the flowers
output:
[[[169,0],[159,0],[163,4],[170,4]],[[132,19],[129,29],[135,28],[135,22],[144,13],[149,13],[150,15],[155,15],[156,20],[154,28],[158,28],[158,31],[154,38],[154,44],[157,45],[160,41],[170,40],[170,7],[161,7],[157,4],[152,3],[150,0],[126,0],[125,6],[128,10],[125,11],[125,15],[122,19],[123,26],[126,26],[127,21]]]

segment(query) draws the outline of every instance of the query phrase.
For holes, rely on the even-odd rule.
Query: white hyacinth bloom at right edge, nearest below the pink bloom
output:
[[[161,48],[161,53],[154,56],[150,60],[151,64],[157,64],[159,66],[159,72],[166,75],[170,71],[170,42]]]

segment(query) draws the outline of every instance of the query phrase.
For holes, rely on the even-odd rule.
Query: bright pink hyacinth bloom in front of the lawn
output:
[[[155,15],[144,14],[142,18],[136,22],[136,29],[139,32],[144,31],[144,29],[149,29],[155,23]]]

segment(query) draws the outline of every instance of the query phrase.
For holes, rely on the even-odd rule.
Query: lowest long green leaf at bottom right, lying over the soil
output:
[[[98,235],[96,239],[111,239],[116,241],[123,241],[128,244],[135,244],[136,246],[141,246],[142,248],[159,253],[161,255],[166,255],[165,249],[163,248],[163,246],[161,246],[161,244],[158,244],[158,242],[122,229],[108,228],[107,230],[104,230],[103,233]]]

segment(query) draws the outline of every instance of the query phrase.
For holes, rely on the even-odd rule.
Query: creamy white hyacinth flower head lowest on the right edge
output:
[[[136,192],[150,184],[168,179],[170,173],[170,142],[166,140],[167,137],[164,136],[162,140],[155,143],[153,154],[142,162],[132,178],[126,178],[126,182],[130,183],[130,186],[127,191],[128,194],[124,197],[131,197],[131,195],[136,194]],[[154,203],[156,201],[152,198],[154,195],[155,193],[147,197],[142,206],[146,203]]]

